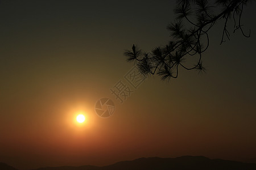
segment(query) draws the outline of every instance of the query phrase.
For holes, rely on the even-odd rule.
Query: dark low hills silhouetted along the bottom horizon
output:
[[[1,170],[18,170],[0,163]],[[209,159],[204,156],[181,156],[178,158],[139,158],[122,161],[104,167],[85,165],[80,167],[45,167],[34,170],[256,170],[254,163],[242,163],[231,160]]]

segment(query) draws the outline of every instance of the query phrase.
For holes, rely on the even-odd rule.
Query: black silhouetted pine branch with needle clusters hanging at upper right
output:
[[[177,78],[179,67],[186,70],[205,72],[202,63],[202,53],[208,49],[208,31],[219,20],[224,20],[221,42],[229,40],[230,33],[227,28],[229,20],[234,22],[233,32],[240,29],[242,35],[250,37],[243,31],[241,16],[243,7],[249,0],[179,0],[174,9],[177,21],[167,26],[171,33],[172,41],[165,46],[159,46],[150,53],[145,53],[133,45],[132,50],[125,50],[127,61],[134,61],[144,75],[158,74],[162,80]],[[218,11],[215,14],[213,11]],[[189,24],[185,27],[183,24]],[[206,43],[203,46],[203,41]],[[185,57],[193,57],[196,62],[187,66]]]

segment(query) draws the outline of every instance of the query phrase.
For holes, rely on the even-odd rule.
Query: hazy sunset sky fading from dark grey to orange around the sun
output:
[[[30,169],[140,157],[256,158],[255,8],[210,31],[207,74],[151,76],[123,104],[110,88],[133,67],[123,51],[166,44],[174,1],[0,1],[0,162]],[[232,25],[229,25],[232,29]],[[233,32],[230,30],[230,32]],[[110,97],[115,112],[94,106]],[[83,112],[86,122],[74,118]]]

